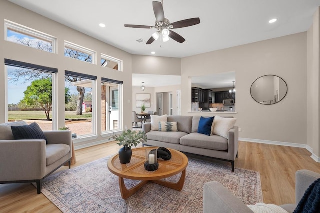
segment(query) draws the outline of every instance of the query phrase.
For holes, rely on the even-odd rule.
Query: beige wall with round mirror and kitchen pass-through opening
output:
[[[235,71],[237,114],[232,115],[242,128],[239,137],[305,147],[306,55],[306,32],[302,32],[182,58],[182,114],[194,114],[190,76]],[[253,81],[267,74],[283,78],[288,85],[285,98],[273,105],[259,104],[250,95]]]

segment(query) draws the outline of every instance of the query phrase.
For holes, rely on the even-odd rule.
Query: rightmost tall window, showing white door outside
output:
[[[122,81],[102,78],[101,87],[102,132],[120,129]]]

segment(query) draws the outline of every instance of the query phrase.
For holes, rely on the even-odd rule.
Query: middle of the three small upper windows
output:
[[[64,42],[64,56],[96,64],[95,51],[68,41]]]

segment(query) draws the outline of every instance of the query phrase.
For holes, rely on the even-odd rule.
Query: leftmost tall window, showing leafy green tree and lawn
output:
[[[42,130],[52,130],[52,81],[55,81],[57,69],[8,59],[5,59],[5,66],[8,121],[37,122]]]

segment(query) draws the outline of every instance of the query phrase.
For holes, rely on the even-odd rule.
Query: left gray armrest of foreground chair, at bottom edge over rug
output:
[[[217,181],[203,186],[203,212],[253,212]]]

